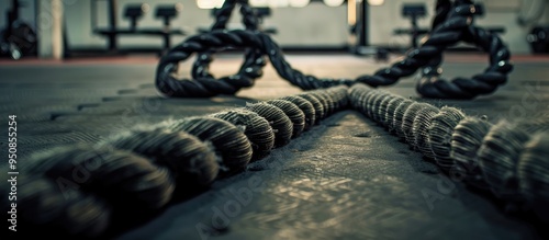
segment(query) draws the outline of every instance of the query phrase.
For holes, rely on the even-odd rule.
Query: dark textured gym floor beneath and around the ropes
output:
[[[290,55],[289,62],[318,77],[355,78],[388,62],[351,55]],[[516,56],[509,82],[472,101],[419,99],[415,79],[390,92],[457,106],[489,121],[547,111],[549,59]],[[240,56],[221,55],[212,72],[236,72]],[[192,61],[183,62],[188,76]],[[446,58],[445,76],[471,76],[483,55]],[[0,113],[18,119],[18,167],[33,152],[97,142],[116,132],[168,118],[204,115],[301,92],[268,65],[255,87],[236,96],[166,99],[154,87],[154,57],[0,62]],[[0,155],[7,156],[7,124]],[[2,159],[5,159],[2,157]],[[5,169],[5,162],[2,162]],[[2,179],[7,178],[2,170]],[[40,214],[40,213],[37,213]],[[338,112],[251,163],[154,216],[117,219],[109,238],[136,239],[544,239],[529,215],[514,214],[490,195],[442,174],[435,164],[355,111]]]

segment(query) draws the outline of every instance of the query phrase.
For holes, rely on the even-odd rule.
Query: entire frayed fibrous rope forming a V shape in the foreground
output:
[[[154,212],[178,193],[243,171],[348,103],[452,178],[549,221],[547,118],[493,125],[455,107],[438,108],[366,84],[165,121],[97,145],[36,153],[30,174],[19,180],[20,218],[57,236],[101,236],[115,216]]]

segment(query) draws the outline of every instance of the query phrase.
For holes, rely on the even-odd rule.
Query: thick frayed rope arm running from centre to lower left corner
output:
[[[103,236],[124,214],[155,213],[178,195],[203,191],[217,179],[246,170],[249,162],[346,108],[347,90],[304,92],[138,126],[96,145],[37,152],[29,160],[30,174],[18,179],[18,220],[54,236]],[[0,192],[8,193],[3,186]]]

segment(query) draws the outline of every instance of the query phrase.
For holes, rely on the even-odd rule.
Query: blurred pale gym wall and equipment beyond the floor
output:
[[[87,55],[161,53],[208,31],[223,0],[1,0],[2,56],[69,58]],[[264,30],[287,52],[402,50],[428,31],[435,0],[250,0]],[[496,31],[513,54],[548,50],[546,0],[483,0],[477,24]],[[407,12],[407,10],[416,12]],[[161,11],[166,10],[166,11]],[[164,15],[163,15],[164,14]],[[416,20],[416,28],[413,28]],[[24,26],[21,26],[24,24]],[[19,28],[18,28],[19,27]],[[167,28],[169,27],[169,30]],[[231,28],[242,27],[234,14]],[[10,31],[7,31],[10,30]],[[35,37],[25,36],[34,32]],[[18,35],[19,34],[19,35]],[[22,36],[23,35],[23,36]],[[30,34],[32,35],[32,34]],[[30,37],[12,44],[10,38]],[[33,38],[35,42],[33,43]],[[24,42],[24,41],[23,41]],[[35,44],[35,47],[34,47]],[[32,45],[32,46],[31,46]],[[13,49],[12,49],[13,50]],[[456,50],[474,50],[457,47]],[[25,53],[26,52],[26,53]],[[15,56],[13,56],[15,55]]]

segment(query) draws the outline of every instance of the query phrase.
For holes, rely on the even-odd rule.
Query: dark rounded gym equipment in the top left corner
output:
[[[0,33],[1,55],[9,55],[14,60],[36,54],[36,32],[20,18],[19,10],[23,7],[24,3],[19,0],[11,1],[11,9],[5,13],[5,28]]]

